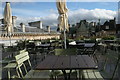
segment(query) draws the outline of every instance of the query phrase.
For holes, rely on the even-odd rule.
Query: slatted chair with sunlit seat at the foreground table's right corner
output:
[[[113,79],[113,76],[115,74],[115,71],[116,71],[116,66],[118,65],[119,63],[119,60],[120,60],[120,57],[112,52],[110,50],[110,52],[108,51],[109,54],[106,54],[106,60],[105,60],[105,64],[103,66],[103,70],[99,71],[99,70],[83,70],[83,78],[85,80],[92,80],[92,79],[95,79],[95,80],[104,80],[104,79],[110,79],[110,80],[114,80]],[[112,60],[112,63],[115,62],[115,68],[113,71],[111,71],[110,73],[107,73],[105,71],[105,68],[106,68],[106,64],[108,63],[108,60],[111,59]]]

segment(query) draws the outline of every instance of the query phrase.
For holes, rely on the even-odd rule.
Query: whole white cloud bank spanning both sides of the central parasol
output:
[[[53,13],[49,14],[46,17],[18,17],[17,23],[19,24],[20,22],[23,22],[27,25],[28,22],[41,20],[44,26],[50,25],[52,28],[55,28],[58,23],[58,13],[56,13],[57,11],[53,10],[52,12]],[[76,24],[83,19],[86,19],[87,21],[98,21],[98,19],[101,19],[101,22],[103,23],[105,20],[114,19],[116,16],[116,11],[106,9],[78,9],[74,11],[70,10],[68,13],[70,24]]]

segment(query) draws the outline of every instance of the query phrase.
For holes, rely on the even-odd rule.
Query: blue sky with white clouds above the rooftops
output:
[[[2,2],[3,15],[5,2]],[[43,26],[57,26],[59,16],[55,2],[11,2],[12,15],[17,16],[17,24],[41,20]],[[117,2],[67,2],[68,19],[70,24],[87,21],[98,21],[117,17]]]

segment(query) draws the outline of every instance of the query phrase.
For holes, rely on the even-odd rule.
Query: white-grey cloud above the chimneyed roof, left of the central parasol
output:
[[[51,28],[54,28],[55,26],[57,26],[57,18],[58,18],[58,14],[50,14],[46,17],[18,17],[17,18],[17,25],[19,25],[21,22],[25,23],[26,25],[28,25],[29,22],[34,22],[34,21],[42,21],[43,26],[51,26]]]

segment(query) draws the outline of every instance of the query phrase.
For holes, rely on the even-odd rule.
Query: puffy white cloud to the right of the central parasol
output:
[[[79,9],[75,11],[69,11],[69,20],[70,23],[79,22],[80,20],[86,19],[88,21],[97,21],[101,20],[109,20],[114,19],[116,17],[117,12],[106,9]]]

